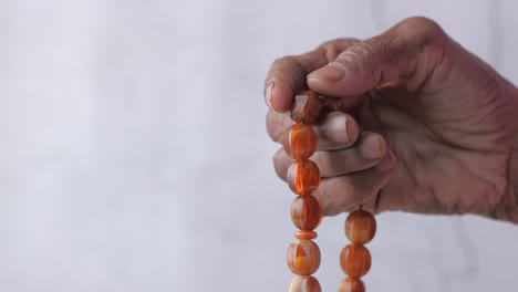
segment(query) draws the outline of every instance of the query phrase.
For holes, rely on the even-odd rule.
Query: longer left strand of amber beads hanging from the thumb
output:
[[[312,194],[320,186],[319,167],[309,158],[317,150],[317,134],[311,125],[318,117],[322,102],[313,92],[301,92],[294,97],[291,117],[294,124],[284,135],[284,152],[296,161],[289,167],[287,180],[290,189],[299,195],[291,205],[291,220],[300,229],[297,241],[288,249],[288,267],[298,274],[290,284],[290,292],[321,292],[319,281],[312,277],[320,267],[320,249],[312,240],[313,230],[322,221],[323,212]]]

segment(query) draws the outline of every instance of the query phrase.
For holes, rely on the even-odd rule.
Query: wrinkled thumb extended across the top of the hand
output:
[[[381,35],[349,46],[336,60],[310,73],[308,85],[338,97],[390,84],[416,90],[441,62],[446,41],[437,23],[410,18]]]

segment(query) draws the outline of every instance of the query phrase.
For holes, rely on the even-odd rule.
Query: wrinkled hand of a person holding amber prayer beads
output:
[[[266,79],[268,133],[291,126],[309,87],[339,112],[315,126],[314,194],[325,215],[477,213],[518,222],[518,91],[433,21],[411,18],[365,41],[327,42],[277,60]],[[279,176],[292,163],[274,156]]]

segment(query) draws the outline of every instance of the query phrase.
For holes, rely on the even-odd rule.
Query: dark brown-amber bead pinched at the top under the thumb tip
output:
[[[323,106],[323,101],[312,91],[297,94],[291,105],[291,118],[297,123],[313,124]]]

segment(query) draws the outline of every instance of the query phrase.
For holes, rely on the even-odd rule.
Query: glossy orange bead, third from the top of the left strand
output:
[[[320,169],[311,160],[297,161],[288,168],[287,180],[294,194],[309,196],[320,187]]]

